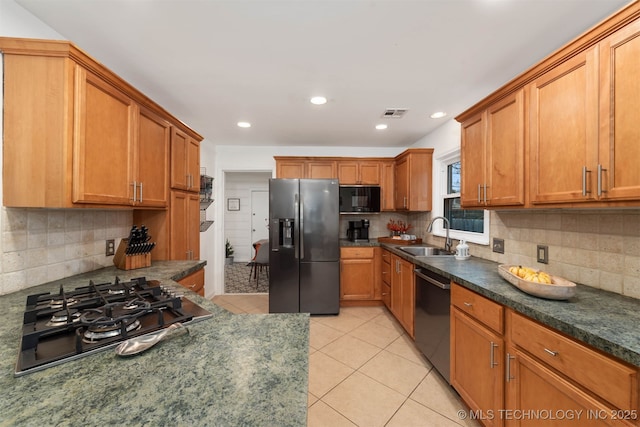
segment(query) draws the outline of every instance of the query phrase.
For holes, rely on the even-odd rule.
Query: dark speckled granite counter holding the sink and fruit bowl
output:
[[[454,280],[507,307],[640,367],[640,300],[578,285],[568,301],[536,298],[516,289],[498,274],[498,264],[472,257],[417,260],[395,245],[385,249]]]

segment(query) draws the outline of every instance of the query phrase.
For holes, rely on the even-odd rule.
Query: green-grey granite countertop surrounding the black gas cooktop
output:
[[[203,261],[108,267],[0,296],[0,426],[305,426],[308,314],[232,314],[185,289],[213,313],[137,356],[113,349],[14,377],[28,295],[88,280],[145,276],[179,286]]]

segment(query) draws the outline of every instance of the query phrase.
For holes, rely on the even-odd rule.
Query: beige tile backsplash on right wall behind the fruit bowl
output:
[[[429,214],[413,215],[424,224]],[[640,210],[492,211],[491,238],[504,239],[505,253],[469,243],[471,255],[500,264],[522,264],[576,283],[640,298]],[[427,243],[444,238],[423,234]],[[458,241],[454,240],[453,247]],[[538,263],[537,245],[549,247],[549,263]]]

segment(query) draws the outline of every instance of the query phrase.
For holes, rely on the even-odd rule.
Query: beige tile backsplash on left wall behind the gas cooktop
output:
[[[0,295],[113,265],[106,239],[127,237],[132,211],[1,208]]]

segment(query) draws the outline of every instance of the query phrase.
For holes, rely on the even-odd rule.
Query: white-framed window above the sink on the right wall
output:
[[[462,209],[460,206],[461,173],[460,151],[456,150],[441,158],[439,194],[431,217],[444,216],[449,220],[450,235],[479,244],[489,244],[489,211],[484,209]],[[442,221],[434,224],[434,234],[444,236]]]

